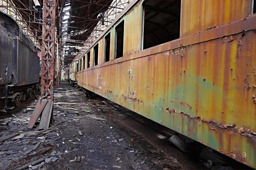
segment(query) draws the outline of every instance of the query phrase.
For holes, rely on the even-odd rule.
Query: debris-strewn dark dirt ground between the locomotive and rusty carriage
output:
[[[174,131],[100,96],[89,100],[67,83],[61,88],[67,90],[55,91],[54,123],[47,131],[38,131],[39,123],[26,128],[35,99],[1,115],[0,139],[19,133],[0,143],[1,170],[26,164],[31,170],[205,169],[167,143]]]

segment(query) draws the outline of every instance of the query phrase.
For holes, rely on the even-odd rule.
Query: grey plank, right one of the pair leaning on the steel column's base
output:
[[[38,129],[47,129],[49,127],[52,117],[52,107],[53,101],[47,102],[47,105],[45,106],[44,111],[42,113]]]

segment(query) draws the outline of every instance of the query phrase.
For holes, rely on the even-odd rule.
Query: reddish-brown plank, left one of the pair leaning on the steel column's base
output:
[[[38,100],[35,110],[32,113],[31,118],[29,119],[29,123],[27,125],[27,128],[32,129],[35,125],[35,122],[38,120],[40,115],[42,114],[45,106],[47,105],[48,100],[46,99],[40,99]]]

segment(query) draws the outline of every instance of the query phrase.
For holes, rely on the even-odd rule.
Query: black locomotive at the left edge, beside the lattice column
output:
[[[40,82],[40,59],[32,40],[0,12],[0,113],[31,97]]]

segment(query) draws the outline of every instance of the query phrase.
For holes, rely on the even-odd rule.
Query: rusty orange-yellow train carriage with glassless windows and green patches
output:
[[[73,63],[72,79],[256,168],[255,4],[134,0]]]

